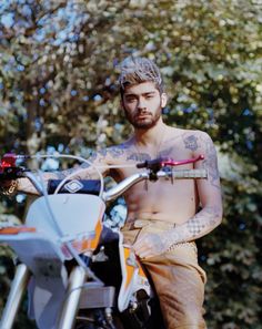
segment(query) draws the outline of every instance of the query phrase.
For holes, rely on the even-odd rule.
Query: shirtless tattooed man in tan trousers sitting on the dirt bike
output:
[[[216,154],[209,135],[168,126],[161,112],[167,104],[158,66],[143,58],[129,58],[121,66],[121,105],[133,126],[133,135],[123,144],[95,153],[91,161],[99,165],[121,165],[155,157],[184,160],[203,154],[194,167],[208,169],[208,179],[178,179],[173,184],[159,179],[139,183],[125,193],[128,218],[122,228],[125,243],[154,282],[168,329],[204,329],[202,305],[205,274],[198,265],[194,240],[214,229],[222,218],[222,201]],[[193,168],[192,164],[183,168]],[[138,171],[138,169],[137,169]],[[104,171],[117,182],[135,169]],[[46,174],[62,178],[69,172]],[[81,178],[91,175],[87,167]],[[33,192],[27,179],[19,189]],[[199,210],[201,205],[201,210]]]

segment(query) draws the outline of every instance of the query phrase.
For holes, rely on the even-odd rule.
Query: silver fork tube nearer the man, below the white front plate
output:
[[[58,329],[72,329],[79,309],[82,286],[85,282],[87,273],[81,266],[73,268],[67,288],[66,300],[59,318]],[[0,328],[1,329],[1,328]]]

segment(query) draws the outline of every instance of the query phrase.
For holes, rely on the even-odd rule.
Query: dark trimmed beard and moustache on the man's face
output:
[[[158,121],[162,114],[161,106],[158,107],[158,111],[154,114],[152,114],[151,112],[147,112],[147,111],[145,112],[137,111],[135,113],[131,114],[125,110],[124,106],[123,106],[123,110],[124,110],[125,117],[128,119],[128,121],[132,124],[132,126],[134,128],[138,128],[138,130],[149,130],[149,128],[153,127],[158,123]],[[143,115],[143,114],[147,115],[147,117],[139,119],[139,115]]]

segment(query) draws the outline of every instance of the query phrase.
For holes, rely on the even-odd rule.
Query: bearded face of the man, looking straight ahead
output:
[[[122,107],[128,121],[135,128],[150,128],[157,124],[165,105],[165,94],[160,95],[152,82],[125,88]]]

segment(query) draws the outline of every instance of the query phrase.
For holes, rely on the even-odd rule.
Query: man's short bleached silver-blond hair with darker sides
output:
[[[163,92],[163,80],[157,64],[147,58],[129,56],[120,65],[120,92],[129,85],[153,82],[160,94]]]

